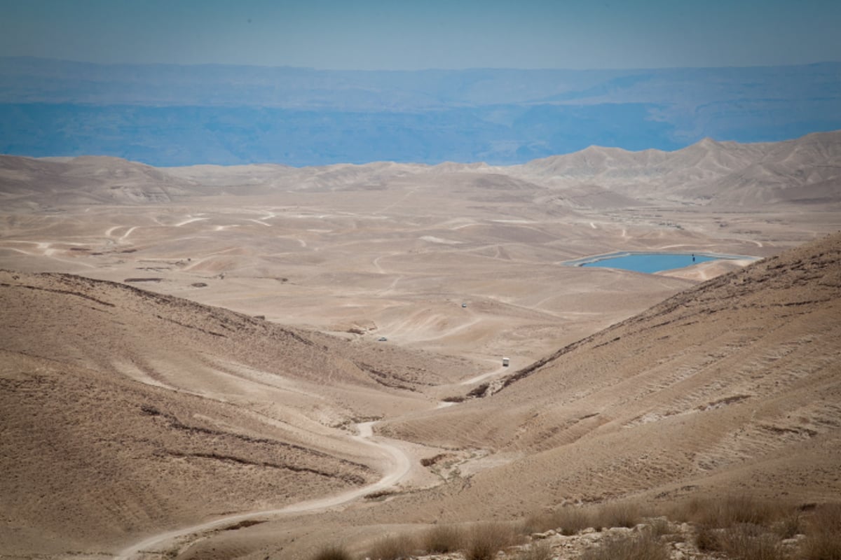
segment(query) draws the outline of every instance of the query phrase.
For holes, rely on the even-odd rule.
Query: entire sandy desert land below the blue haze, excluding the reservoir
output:
[[[839,230],[841,132],[0,156],[0,557],[838,557]]]

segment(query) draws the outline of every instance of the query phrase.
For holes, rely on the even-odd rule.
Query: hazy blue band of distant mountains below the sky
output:
[[[319,71],[0,58],[0,153],[150,165],[512,165],[841,128],[841,63],[621,71]]]

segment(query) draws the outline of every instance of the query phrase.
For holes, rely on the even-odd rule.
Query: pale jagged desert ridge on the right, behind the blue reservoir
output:
[[[593,182],[646,200],[714,206],[798,200],[826,204],[837,202],[841,193],[841,133],[764,144],[703,139],[674,152],[590,147],[512,170],[533,181]]]

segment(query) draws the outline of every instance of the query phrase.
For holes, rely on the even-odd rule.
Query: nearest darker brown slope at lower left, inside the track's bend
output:
[[[108,550],[378,474],[240,406],[3,351],[3,553]],[[321,445],[318,445],[318,444]],[[356,459],[356,460],[354,460]]]

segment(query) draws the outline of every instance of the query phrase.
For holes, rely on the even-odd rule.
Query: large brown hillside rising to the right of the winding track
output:
[[[841,235],[682,292],[484,394],[386,429],[504,463],[463,466],[478,472],[449,489],[458,515],[487,495],[486,514],[698,487],[837,496]]]

